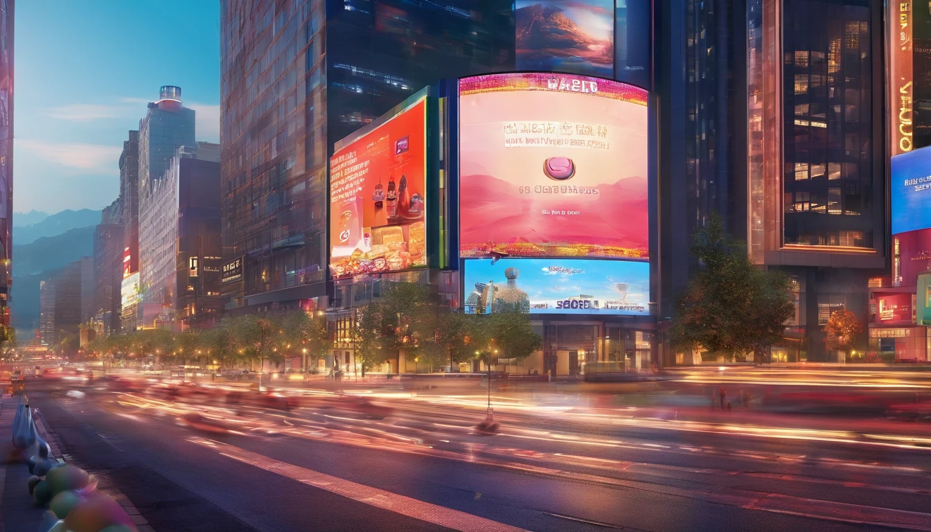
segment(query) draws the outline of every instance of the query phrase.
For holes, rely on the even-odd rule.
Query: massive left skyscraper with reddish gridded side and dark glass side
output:
[[[223,259],[244,264],[223,288],[234,305],[326,294],[333,143],[440,78],[513,70],[512,9],[223,0]]]

